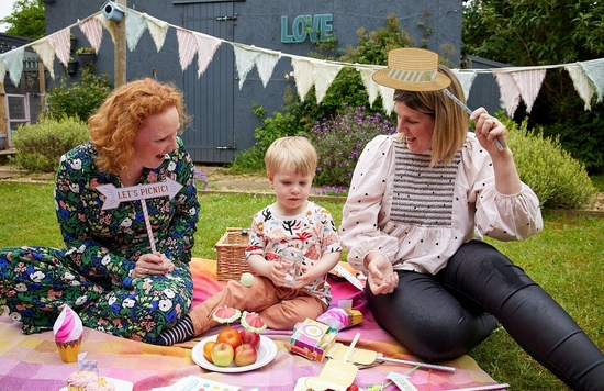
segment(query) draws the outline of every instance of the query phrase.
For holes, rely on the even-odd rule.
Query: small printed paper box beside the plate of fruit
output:
[[[310,360],[322,362],[336,342],[337,329],[312,319],[293,327],[290,351]]]

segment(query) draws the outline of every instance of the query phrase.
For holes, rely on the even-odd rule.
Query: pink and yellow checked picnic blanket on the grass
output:
[[[222,289],[222,282],[216,280],[214,260],[193,259],[191,268],[194,275],[195,303]],[[361,337],[356,345],[359,348],[377,350],[385,357],[418,361],[376,324],[362,292],[347,281],[331,279],[329,282],[334,293],[333,305],[337,305],[339,300],[350,299],[353,306],[363,313],[363,322],[338,333],[337,342],[348,345],[356,333],[360,333]],[[239,386],[243,391],[291,391],[299,378],[318,376],[325,365],[325,361],[311,361],[290,353],[288,342],[291,332],[267,329],[262,335],[275,340],[278,347],[275,360],[248,372],[210,372],[191,359],[191,348],[199,339],[217,332],[219,327],[210,329],[195,340],[161,347],[86,328],[82,351],[87,353],[87,359],[98,361],[100,375],[130,381],[135,391],[168,387],[190,375]],[[456,390],[496,383],[469,356],[438,364],[455,367],[456,371],[449,373],[413,370],[409,376],[417,390]],[[20,323],[7,314],[0,316],[0,390],[58,391],[65,386],[65,379],[77,369],[78,364],[64,364],[60,360],[52,331],[23,335]],[[361,388],[382,384],[389,372],[403,373],[410,369],[413,367],[381,364],[359,370],[355,383]],[[391,386],[384,390],[396,388]]]

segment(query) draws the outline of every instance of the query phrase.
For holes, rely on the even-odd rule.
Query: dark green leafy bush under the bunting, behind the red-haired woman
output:
[[[88,118],[101,105],[111,92],[109,75],[94,75],[94,67],[85,67],[81,81],[67,86],[65,79],[48,92],[46,116],[60,120],[72,116],[81,121]]]

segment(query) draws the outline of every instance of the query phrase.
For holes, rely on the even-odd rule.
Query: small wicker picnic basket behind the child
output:
[[[246,228],[227,227],[216,243],[216,275],[219,281],[238,280],[244,272],[251,272],[245,259],[248,245]]]

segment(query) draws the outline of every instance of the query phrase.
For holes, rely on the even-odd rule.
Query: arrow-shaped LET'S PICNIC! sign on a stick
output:
[[[152,252],[155,254],[155,239],[153,238],[153,230],[149,222],[149,212],[147,211],[147,203],[145,200],[158,197],[169,197],[170,200],[178,194],[182,189],[182,185],[179,182],[166,178],[164,182],[155,182],[148,185],[130,186],[125,188],[116,188],[112,183],[101,185],[97,190],[105,197],[102,210],[114,209],[121,202],[125,201],[141,201],[143,206],[143,215],[145,216],[145,225],[147,226],[147,235],[149,236],[149,243]]]

